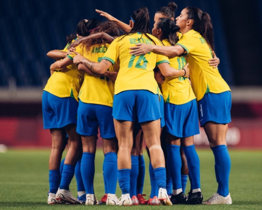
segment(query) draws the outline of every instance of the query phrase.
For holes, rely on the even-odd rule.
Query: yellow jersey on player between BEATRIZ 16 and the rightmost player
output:
[[[171,46],[167,39],[162,42],[165,46]],[[168,57],[168,59],[174,69],[180,70],[186,64],[184,56]],[[165,103],[181,105],[196,98],[189,79],[185,77],[165,77],[161,89]]]

